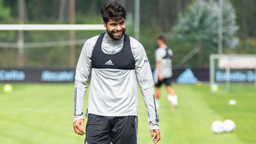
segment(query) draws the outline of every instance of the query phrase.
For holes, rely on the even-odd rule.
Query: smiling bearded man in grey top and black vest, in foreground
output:
[[[151,137],[156,143],[161,137],[154,82],[145,50],[141,43],[125,34],[126,10],[119,2],[102,5],[101,16],[107,32],[85,42],[76,68],[74,131],[86,135],[85,144],[138,143],[139,84]],[[82,107],[90,76],[84,132]]]

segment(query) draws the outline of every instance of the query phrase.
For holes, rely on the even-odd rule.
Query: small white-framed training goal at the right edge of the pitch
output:
[[[254,84],[256,91],[255,54],[211,54],[209,61],[211,92],[229,92],[230,82]]]

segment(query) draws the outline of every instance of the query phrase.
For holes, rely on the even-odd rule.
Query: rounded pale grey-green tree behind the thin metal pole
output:
[[[236,48],[239,44],[235,36],[239,27],[236,25],[236,10],[227,0],[223,2],[223,47]],[[218,3],[214,0],[196,0],[178,16],[174,32],[178,38],[198,41],[198,64],[202,65],[203,55],[217,52]],[[204,43],[208,46],[202,49]],[[213,51],[215,50],[215,51]],[[208,62],[208,59],[206,60]]]

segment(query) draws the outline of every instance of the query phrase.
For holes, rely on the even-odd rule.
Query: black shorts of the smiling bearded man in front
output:
[[[137,144],[137,116],[88,115],[84,144]]]

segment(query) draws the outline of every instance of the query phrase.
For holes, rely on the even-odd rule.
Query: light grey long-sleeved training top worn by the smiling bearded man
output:
[[[91,76],[87,114],[100,116],[137,116],[138,84],[147,108],[150,130],[158,128],[158,114],[154,99],[154,82],[146,52],[137,40],[130,37],[135,70],[92,68],[91,56],[99,36],[88,39],[82,48],[75,75],[73,121],[83,119],[84,95]],[[118,53],[124,42],[113,41],[107,33],[103,37],[102,52]]]

